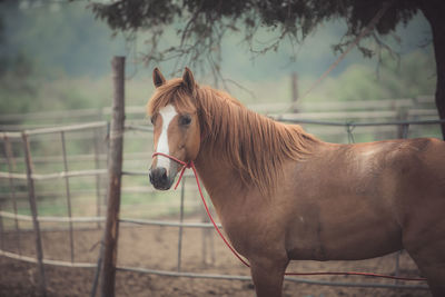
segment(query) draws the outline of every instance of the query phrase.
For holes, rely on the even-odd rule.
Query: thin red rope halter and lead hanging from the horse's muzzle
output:
[[[155,158],[156,156],[162,156],[166,158],[169,158],[180,165],[182,165],[182,169],[179,174],[179,178],[178,181],[176,182],[175,186],[175,190],[178,188],[180,180],[182,179],[184,176],[184,171],[186,171],[186,169],[191,168],[191,170],[194,170],[194,175],[195,175],[195,179],[196,179],[196,185],[198,185],[198,190],[199,190],[199,195],[201,196],[201,200],[204,204],[204,208],[206,209],[207,216],[209,217],[211,224],[215,227],[215,230],[218,232],[219,237],[222,239],[222,241],[226,244],[226,246],[231,250],[231,253],[234,253],[234,255],[247,267],[250,267],[250,265],[243,259],[243,257],[238,254],[238,251],[236,251],[231,245],[229,244],[229,241],[226,239],[226,237],[222,235],[222,232],[219,230],[218,226],[216,225],[214,217],[210,214],[210,210],[207,206],[206,199],[204,198],[202,195],[202,189],[201,189],[201,185],[199,184],[199,179],[198,179],[198,174],[196,172],[196,168],[195,168],[195,164],[194,161],[189,161],[189,162],[185,162],[181,161],[172,156],[169,156],[167,154],[164,152],[155,152],[151,157]],[[285,273],[285,275],[287,276],[370,276],[370,277],[380,277],[380,278],[390,278],[390,279],[397,279],[397,280],[415,280],[415,281],[423,281],[426,280],[426,278],[412,278],[412,277],[398,277],[398,276],[388,276],[388,275],[380,275],[380,274],[370,274],[370,273],[329,273],[329,271],[323,271],[323,273]]]

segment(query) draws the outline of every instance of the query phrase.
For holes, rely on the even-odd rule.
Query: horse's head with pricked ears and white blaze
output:
[[[200,147],[200,127],[194,97],[197,86],[194,75],[186,68],[181,79],[166,81],[154,70],[156,91],[148,102],[148,113],[154,125],[154,151],[189,162],[196,159]],[[180,164],[156,155],[149,171],[156,189],[168,190]]]

